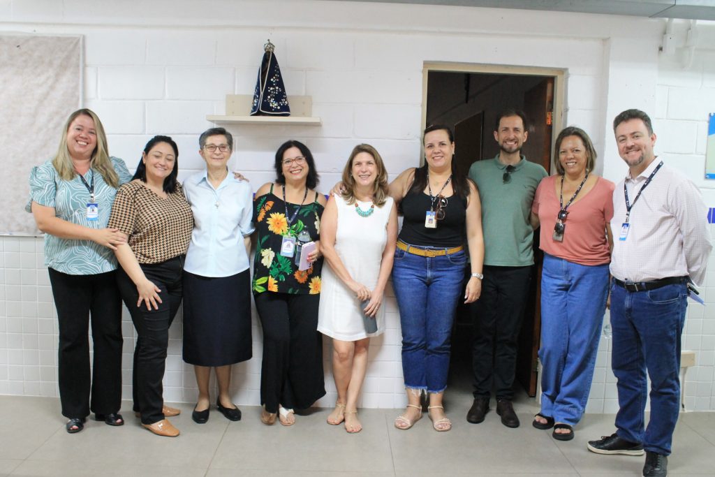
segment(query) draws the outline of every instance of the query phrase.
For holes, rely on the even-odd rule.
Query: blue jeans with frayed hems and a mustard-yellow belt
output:
[[[465,252],[420,257],[395,250],[393,288],[400,308],[405,387],[441,393],[447,387],[455,308],[464,296]]]

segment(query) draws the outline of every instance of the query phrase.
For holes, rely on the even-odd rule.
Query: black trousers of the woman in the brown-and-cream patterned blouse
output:
[[[144,303],[137,307],[137,285],[122,269],[117,271],[117,283],[137,330],[132,375],[134,410],[142,413],[142,424],[153,424],[164,419],[162,379],[167,361],[169,327],[181,305],[184,257],[141,267],[147,279],[161,290],[159,297],[162,303],[157,303],[159,310],[149,310]]]

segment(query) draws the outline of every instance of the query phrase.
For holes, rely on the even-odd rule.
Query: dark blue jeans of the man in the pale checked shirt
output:
[[[680,340],[687,295],[684,284],[642,292],[611,285],[611,364],[618,379],[618,436],[665,456],[671,453],[680,410]],[[648,428],[644,428],[646,370],[651,378]]]

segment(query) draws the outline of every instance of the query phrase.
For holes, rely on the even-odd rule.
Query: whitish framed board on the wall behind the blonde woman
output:
[[[82,63],[82,36],[0,35],[0,235],[39,235],[28,177],[81,107]]]

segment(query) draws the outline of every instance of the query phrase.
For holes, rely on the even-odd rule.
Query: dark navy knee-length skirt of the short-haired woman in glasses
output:
[[[184,271],[184,361],[224,366],[250,360],[251,277],[202,277]]]

